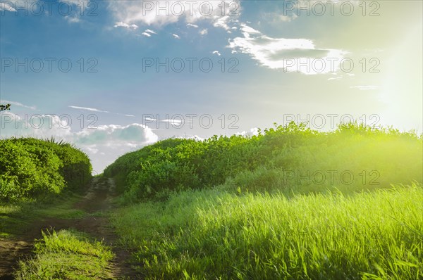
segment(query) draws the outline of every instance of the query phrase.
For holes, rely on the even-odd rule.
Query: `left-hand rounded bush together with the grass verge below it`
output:
[[[53,138],[2,139],[0,151],[0,238],[42,217],[84,215],[71,206],[91,179],[85,153]]]

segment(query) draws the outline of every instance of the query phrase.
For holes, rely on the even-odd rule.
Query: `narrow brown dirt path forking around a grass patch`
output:
[[[75,203],[73,208],[83,210],[87,213],[106,212],[116,207],[112,198],[116,196],[116,189],[113,179],[94,178],[90,188],[82,201]],[[35,221],[25,230],[21,236],[13,240],[0,241],[0,280],[13,279],[13,270],[18,260],[25,259],[32,255],[34,240],[41,238],[41,231],[45,229],[76,229],[97,238],[104,240],[106,245],[111,246],[116,258],[109,267],[114,279],[141,279],[130,263],[130,252],[116,246],[118,236],[114,233],[106,215],[87,215],[82,219],[57,219],[47,218]]]

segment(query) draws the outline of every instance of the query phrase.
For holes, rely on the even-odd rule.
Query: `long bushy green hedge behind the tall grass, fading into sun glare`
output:
[[[355,123],[326,133],[291,122],[252,137],[159,141],[121,156],[104,174],[116,178],[128,201],[219,184],[234,191],[360,191],[422,182],[422,139]]]

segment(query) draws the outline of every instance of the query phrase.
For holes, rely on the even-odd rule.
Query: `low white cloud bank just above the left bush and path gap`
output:
[[[97,173],[101,173],[104,167],[113,163],[120,155],[159,140],[152,129],[137,123],[126,126],[101,125],[75,132],[66,119],[61,120],[56,115],[34,115],[22,119],[19,115],[2,112],[0,117],[2,139],[11,136],[49,139],[53,136],[57,141],[67,141],[87,153],[92,160],[93,170]]]

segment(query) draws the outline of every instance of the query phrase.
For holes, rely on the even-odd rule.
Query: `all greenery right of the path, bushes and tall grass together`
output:
[[[422,279],[422,137],[291,123],[168,139],[106,168],[146,279]]]

